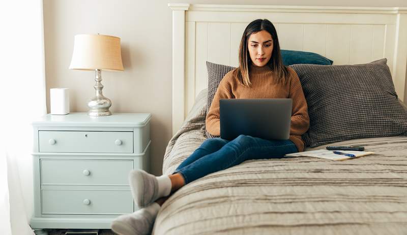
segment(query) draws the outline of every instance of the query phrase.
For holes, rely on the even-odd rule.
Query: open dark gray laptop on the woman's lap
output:
[[[220,138],[239,135],[265,140],[288,140],[293,100],[220,99]]]

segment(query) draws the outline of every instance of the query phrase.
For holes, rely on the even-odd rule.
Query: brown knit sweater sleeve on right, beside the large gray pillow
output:
[[[309,128],[308,106],[297,73],[291,68],[288,70],[290,70],[288,98],[293,99],[290,135],[301,136]]]

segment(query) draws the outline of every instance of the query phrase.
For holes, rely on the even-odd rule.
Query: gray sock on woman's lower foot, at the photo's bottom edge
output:
[[[142,235],[151,233],[160,205],[152,203],[146,208],[121,215],[111,223],[111,229],[120,235]]]

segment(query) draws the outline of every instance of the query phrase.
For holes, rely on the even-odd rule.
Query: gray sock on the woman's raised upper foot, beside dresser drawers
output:
[[[134,202],[143,208],[160,197],[171,192],[171,180],[168,176],[156,177],[143,170],[133,170],[129,174],[129,182]]]

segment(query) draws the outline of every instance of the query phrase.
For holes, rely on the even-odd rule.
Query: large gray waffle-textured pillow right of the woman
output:
[[[387,59],[355,65],[290,65],[300,78],[310,119],[307,146],[407,135]]]

